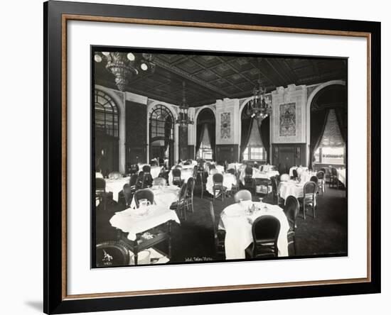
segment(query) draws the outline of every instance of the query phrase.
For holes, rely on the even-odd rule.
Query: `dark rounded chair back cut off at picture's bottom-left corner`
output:
[[[119,241],[99,243],[95,253],[96,267],[129,265],[129,250]]]

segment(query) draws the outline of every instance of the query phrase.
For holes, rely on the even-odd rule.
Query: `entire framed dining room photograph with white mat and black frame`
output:
[[[380,23],[43,8],[45,313],[380,292]]]

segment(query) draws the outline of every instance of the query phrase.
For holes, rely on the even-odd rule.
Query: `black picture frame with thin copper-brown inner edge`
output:
[[[272,299],[326,297],[346,294],[380,292],[380,23],[347,21],[326,18],[271,16],[252,13],[228,13],[163,9],[141,6],[86,4],[48,1],[43,4],[44,15],[44,292],[43,309],[46,314],[64,314],[85,311],[110,311],[164,306],[250,302]],[[117,21],[132,18],[166,21],[167,25],[186,24],[223,28],[264,28],[264,31],[290,33],[352,34],[363,33],[369,40],[368,55],[368,248],[369,279],[346,282],[312,283],[311,285],[275,284],[268,287],[200,288],[198,290],[171,290],[164,294],[102,294],[97,297],[66,294],[66,76],[63,56],[66,55],[64,35],[65,16],[97,17]],[[126,22],[124,22],[126,23]],[[326,30],[326,32],[325,32]],[[64,249],[65,246],[65,249]],[[65,268],[66,269],[66,268]]]

